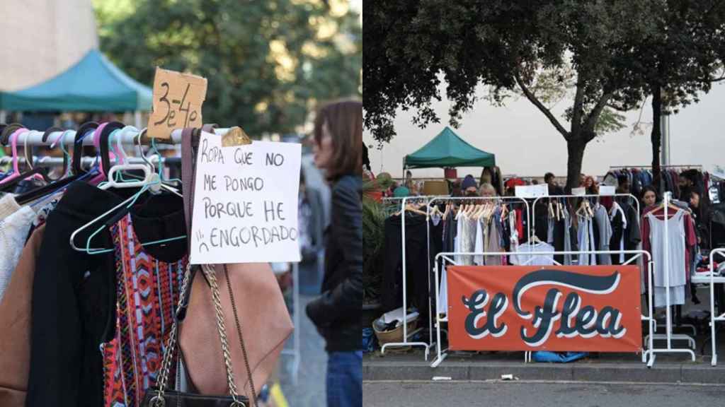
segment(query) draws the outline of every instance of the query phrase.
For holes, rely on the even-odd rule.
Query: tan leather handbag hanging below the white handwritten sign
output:
[[[186,129],[182,136],[183,196],[189,231],[194,202],[193,133]],[[284,342],[294,328],[289,311],[267,263],[218,264],[215,265],[215,276],[228,327],[231,362],[236,373],[234,382],[240,394],[254,400],[276,368]],[[210,285],[204,275],[197,272],[191,284],[179,345],[191,384],[196,391],[207,395],[223,394],[227,388],[222,351],[218,338],[212,335],[216,330],[214,315]],[[249,371],[254,385],[249,382]]]

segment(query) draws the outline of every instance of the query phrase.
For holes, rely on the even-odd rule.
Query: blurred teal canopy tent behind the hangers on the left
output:
[[[151,102],[151,88],[133,80],[95,49],[65,72],[43,83],[0,93],[1,111],[133,111],[136,121],[140,121],[138,112],[151,110]]]

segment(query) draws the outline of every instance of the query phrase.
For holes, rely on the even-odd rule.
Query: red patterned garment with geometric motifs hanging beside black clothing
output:
[[[155,387],[173,309],[178,303],[186,256],[175,263],[144,252],[130,214],[111,230],[116,260],[115,336],[104,353],[104,406],[138,407]],[[170,372],[173,379],[175,373]]]

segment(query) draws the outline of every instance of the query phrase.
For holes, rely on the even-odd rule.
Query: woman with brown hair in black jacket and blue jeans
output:
[[[326,340],[328,407],[363,405],[363,103],[337,101],[315,118],[315,165],[331,184],[322,294],[307,316]]]

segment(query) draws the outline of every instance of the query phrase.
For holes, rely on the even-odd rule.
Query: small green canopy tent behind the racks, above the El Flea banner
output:
[[[403,158],[403,167],[410,168],[448,168],[448,167],[494,167],[496,156],[471,146],[460,138],[450,127],[421,147],[413,154]]]

